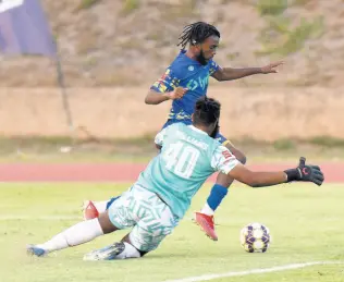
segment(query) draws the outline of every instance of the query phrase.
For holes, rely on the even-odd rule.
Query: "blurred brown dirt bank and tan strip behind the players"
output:
[[[342,0],[37,3],[57,42],[58,63],[54,54],[0,54],[4,159],[155,155],[152,137],[170,103],[147,106],[144,98],[177,54],[183,27],[196,21],[221,32],[214,58],[221,66],[285,61],[278,74],[210,79],[208,95],[222,102],[225,136],[253,159],[343,155]]]

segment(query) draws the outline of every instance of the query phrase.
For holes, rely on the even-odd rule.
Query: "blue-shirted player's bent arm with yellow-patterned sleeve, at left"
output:
[[[177,68],[170,66],[165,73],[150,87],[145,103],[159,105],[167,100],[182,98],[187,88],[180,87],[182,72]]]

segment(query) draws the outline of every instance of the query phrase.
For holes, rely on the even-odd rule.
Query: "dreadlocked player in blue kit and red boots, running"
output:
[[[212,25],[197,22],[184,27],[180,36],[179,46],[181,52],[165,70],[165,73],[150,88],[145,98],[148,105],[159,105],[172,100],[172,108],[163,128],[174,123],[192,123],[192,114],[196,100],[207,95],[209,77],[219,82],[233,81],[254,74],[277,73],[275,68],[283,62],[275,62],[262,68],[232,69],[221,68],[214,61],[220,42],[220,32]],[[188,49],[186,50],[186,46]],[[246,163],[245,155],[220,133],[216,136],[219,143],[229,148],[242,163]],[[210,195],[199,212],[195,214],[195,221],[202,231],[212,240],[218,236],[214,231],[213,214],[222,199],[228,194],[228,188],[233,179],[219,173],[217,182],[211,188]],[[97,217],[116,198],[110,201],[84,203],[84,217],[91,219]]]

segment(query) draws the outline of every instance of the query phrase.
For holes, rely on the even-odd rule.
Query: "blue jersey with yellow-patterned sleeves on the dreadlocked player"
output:
[[[182,50],[161,78],[150,87],[158,93],[172,91],[179,86],[188,88],[183,98],[172,102],[169,120],[191,120],[197,99],[207,94],[209,76],[220,69],[212,60],[201,65],[185,52]]]

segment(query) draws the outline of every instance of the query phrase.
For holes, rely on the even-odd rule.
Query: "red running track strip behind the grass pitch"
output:
[[[0,164],[0,182],[134,182],[146,164],[102,163],[102,164]],[[295,164],[255,164],[255,171],[277,171]],[[344,183],[344,162],[320,163],[327,183]],[[210,177],[214,180],[214,175]]]

